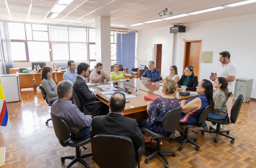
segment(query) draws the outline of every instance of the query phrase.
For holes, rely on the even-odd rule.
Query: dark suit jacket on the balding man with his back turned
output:
[[[122,135],[131,138],[134,149],[144,146],[144,135],[135,119],[117,113],[92,118],[91,138],[97,134]]]

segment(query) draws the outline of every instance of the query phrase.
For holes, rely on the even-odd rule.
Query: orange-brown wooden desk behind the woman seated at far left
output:
[[[42,73],[17,73],[20,77],[20,88],[34,88],[34,91],[36,91],[36,86],[39,86],[42,82],[41,75]],[[52,79],[55,81],[56,85],[58,85],[58,82],[63,80],[63,74],[64,72],[61,71],[53,71],[52,73]]]

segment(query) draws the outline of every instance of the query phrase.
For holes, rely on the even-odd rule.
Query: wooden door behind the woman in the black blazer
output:
[[[186,66],[194,67],[195,76],[199,75],[202,40],[185,41],[183,75]]]

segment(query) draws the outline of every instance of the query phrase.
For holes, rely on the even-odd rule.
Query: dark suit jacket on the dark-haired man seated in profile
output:
[[[77,95],[79,96],[83,104],[95,102],[95,94],[91,93],[86,82],[80,77],[76,76],[73,81],[74,88],[76,89]],[[97,103],[90,104],[84,107],[83,111],[85,114],[92,114],[93,110],[98,106]]]

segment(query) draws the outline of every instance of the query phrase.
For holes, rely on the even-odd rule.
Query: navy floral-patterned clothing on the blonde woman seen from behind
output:
[[[179,101],[177,98],[155,99],[148,109],[149,117],[147,119],[147,128],[159,134],[169,136],[170,133],[164,131],[162,128],[162,121],[164,119],[165,113],[176,107],[179,107]]]

